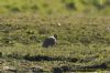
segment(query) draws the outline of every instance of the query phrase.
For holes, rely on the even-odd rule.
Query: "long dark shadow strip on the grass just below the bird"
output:
[[[24,56],[28,61],[68,61],[68,62],[77,62],[78,59],[76,58],[62,58],[62,56],[46,56],[46,55],[34,55],[30,56],[30,54],[26,54]]]

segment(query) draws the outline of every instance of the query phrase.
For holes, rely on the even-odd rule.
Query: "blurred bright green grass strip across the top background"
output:
[[[0,13],[110,14],[108,0],[0,0]]]

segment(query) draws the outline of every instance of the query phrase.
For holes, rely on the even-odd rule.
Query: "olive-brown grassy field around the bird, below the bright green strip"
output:
[[[109,17],[0,15],[0,72],[106,73],[110,69],[109,23]],[[57,44],[42,48],[42,41],[54,33]]]

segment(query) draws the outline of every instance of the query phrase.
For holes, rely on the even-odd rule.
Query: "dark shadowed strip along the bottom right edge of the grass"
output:
[[[62,65],[53,67],[53,73],[63,73],[63,72],[96,72],[97,70],[107,71],[109,67],[106,63],[101,63],[99,65],[90,65],[90,66],[77,66],[77,65]]]

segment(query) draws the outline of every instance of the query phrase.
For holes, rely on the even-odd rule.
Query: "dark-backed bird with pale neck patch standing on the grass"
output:
[[[57,34],[54,34],[52,36],[46,38],[43,41],[43,48],[48,48],[48,46],[53,46],[56,44],[56,40],[57,40]]]

